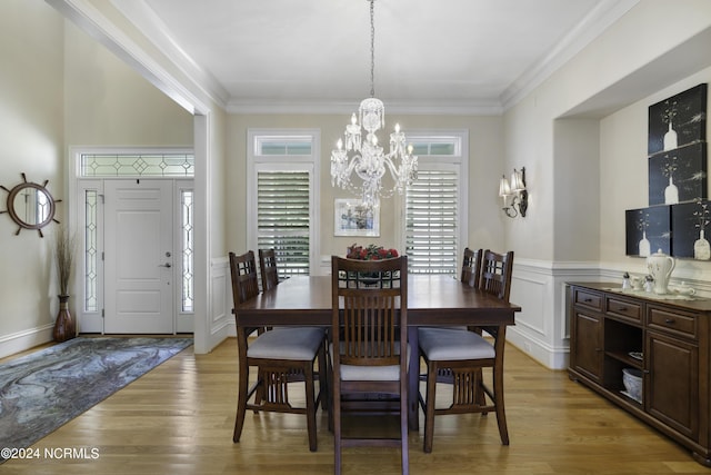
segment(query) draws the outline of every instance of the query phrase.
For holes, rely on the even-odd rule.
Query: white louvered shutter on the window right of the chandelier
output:
[[[459,174],[418,171],[405,198],[405,247],[412,274],[457,274]]]

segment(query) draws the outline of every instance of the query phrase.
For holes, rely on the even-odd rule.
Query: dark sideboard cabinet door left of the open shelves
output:
[[[603,357],[602,318],[578,308],[574,308],[573,318],[572,367],[595,383],[600,383]]]

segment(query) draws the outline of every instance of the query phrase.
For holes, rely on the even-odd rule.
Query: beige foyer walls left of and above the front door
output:
[[[192,146],[192,116],[41,0],[0,2],[0,185],[49,180],[67,222],[70,146]],[[220,137],[222,140],[222,137]],[[221,174],[222,175],[222,174]],[[222,189],[218,187],[218,189]],[[0,209],[6,209],[0,191]],[[0,357],[51,338],[52,237],[0,215]],[[223,243],[223,237],[219,239]],[[23,348],[21,348],[23,349]]]

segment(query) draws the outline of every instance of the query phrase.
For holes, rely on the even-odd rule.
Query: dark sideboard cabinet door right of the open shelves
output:
[[[668,335],[648,331],[647,410],[691,438],[699,435],[699,349]]]

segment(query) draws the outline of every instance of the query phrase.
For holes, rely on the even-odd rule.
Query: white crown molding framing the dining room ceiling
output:
[[[113,26],[86,0],[46,0],[49,4],[74,21],[89,34],[139,70],[149,81],[180,103],[191,113],[207,109],[174,77],[163,70],[149,55]],[[539,87],[553,72],[578,55],[607,28],[619,20],[640,0],[603,0],[578,26],[553,47],[543,58],[513,81],[499,97],[491,101],[387,101],[391,113],[403,115],[475,115],[499,116],[513,107]],[[164,22],[144,2],[110,0],[156,48],[180,70],[198,90],[229,113],[351,113],[357,102],[313,100],[260,100],[230,99],[229,92],[208,71],[197,65],[179,47]]]

